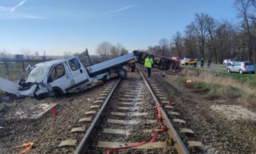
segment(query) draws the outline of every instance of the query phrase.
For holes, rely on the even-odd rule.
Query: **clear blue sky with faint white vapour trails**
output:
[[[236,20],[232,0],[0,0],[0,51],[96,54],[106,41],[132,52],[183,33],[195,13]]]

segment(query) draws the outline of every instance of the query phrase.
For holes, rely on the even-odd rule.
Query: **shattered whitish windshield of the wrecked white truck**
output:
[[[26,82],[42,82],[42,80],[44,80],[44,77],[46,76],[48,68],[48,66],[36,66],[36,68],[34,68],[28,75],[28,80]]]

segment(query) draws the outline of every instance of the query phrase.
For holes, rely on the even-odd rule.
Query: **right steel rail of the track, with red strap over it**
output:
[[[136,65],[136,68],[137,68],[137,70],[139,70],[139,73],[141,74],[141,77],[143,78],[144,83],[146,84],[146,86],[150,90],[150,92],[151,92],[151,94],[152,94],[152,96],[153,96],[153,98],[156,102],[156,105],[159,106],[160,103],[158,102],[158,99],[156,98],[154,92],[150,88],[150,85],[148,84],[145,76],[142,74],[141,70],[139,69],[139,67],[137,67],[137,65]],[[187,147],[184,145],[183,141],[179,137],[179,134],[174,129],[172,123],[170,122],[166,113],[164,112],[164,109],[161,107],[160,110],[161,110],[162,122],[164,123],[164,125],[166,125],[168,134],[173,138],[174,146],[176,147],[177,152],[178,153],[189,153],[189,151],[187,150]]]

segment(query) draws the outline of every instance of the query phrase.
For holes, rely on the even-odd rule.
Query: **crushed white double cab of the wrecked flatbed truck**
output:
[[[52,60],[36,64],[27,80],[19,82],[22,96],[52,95],[67,91],[90,82],[86,68],[77,57]],[[33,92],[34,91],[34,92]]]

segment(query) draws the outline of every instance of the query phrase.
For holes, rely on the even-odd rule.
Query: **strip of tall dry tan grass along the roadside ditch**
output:
[[[208,100],[226,100],[232,101],[234,104],[241,104],[242,106],[256,109],[256,90],[249,88],[248,83],[238,83],[232,78],[216,77],[210,72],[193,72],[190,70],[182,70],[181,76],[186,76],[187,80],[192,80],[193,84],[190,84],[188,88],[196,88],[196,83],[214,84],[219,85],[218,90],[212,92],[212,90],[201,90],[205,92],[205,98]],[[183,82],[184,83],[184,82]],[[198,91],[195,89],[195,92]]]

